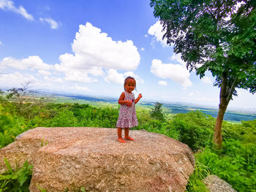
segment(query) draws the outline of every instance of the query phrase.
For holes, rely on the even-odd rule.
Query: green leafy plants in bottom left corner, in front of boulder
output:
[[[0,191],[29,191],[32,165],[26,161],[20,169],[12,170],[7,158],[4,158],[8,171],[0,175]]]

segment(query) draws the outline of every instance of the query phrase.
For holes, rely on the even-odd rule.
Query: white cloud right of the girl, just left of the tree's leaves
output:
[[[182,86],[191,86],[189,71],[180,64],[162,64],[161,60],[154,59],[151,64],[151,73],[161,78],[169,78]]]

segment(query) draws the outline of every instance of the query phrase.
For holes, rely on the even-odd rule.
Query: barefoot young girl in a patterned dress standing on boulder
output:
[[[120,104],[119,117],[116,123],[117,135],[119,142],[126,142],[124,139],[134,140],[129,137],[129,128],[138,126],[138,120],[136,117],[135,104],[142,98],[141,93],[138,98],[135,99],[134,91],[136,88],[136,81],[133,77],[127,77],[124,80],[124,92],[121,93],[118,99],[118,104]],[[122,128],[124,128],[124,139],[121,137]]]

